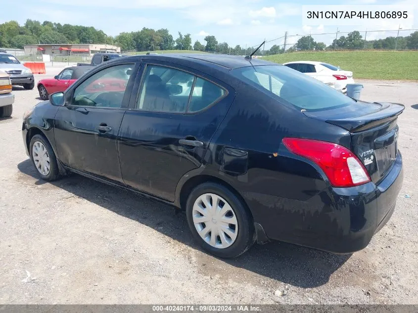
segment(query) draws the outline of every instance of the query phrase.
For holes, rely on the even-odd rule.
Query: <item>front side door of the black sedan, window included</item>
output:
[[[134,67],[106,67],[68,90],[68,103],[59,108],[54,131],[58,157],[64,165],[123,182],[116,138],[128,107],[132,88],[127,86],[131,76],[134,79]]]

